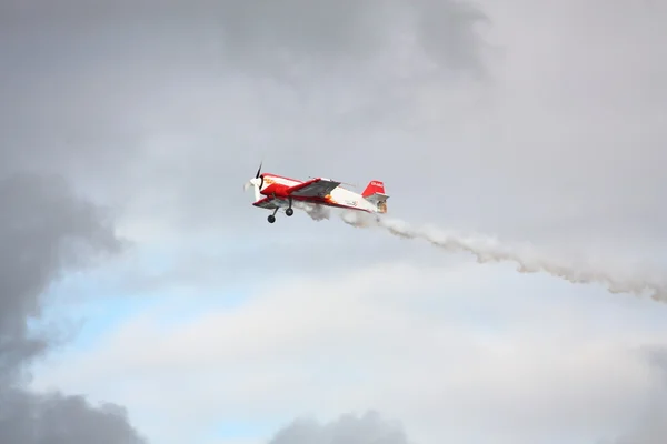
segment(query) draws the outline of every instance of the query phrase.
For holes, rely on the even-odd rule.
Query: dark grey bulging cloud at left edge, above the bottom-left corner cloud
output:
[[[39,315],[48,284],[64,268],[83,265],[90,252],[115,252],[120,245],[98,210],[78,201],[62,180],[0,178],[0,369],[7,372],[46,346],[26,322]]]

